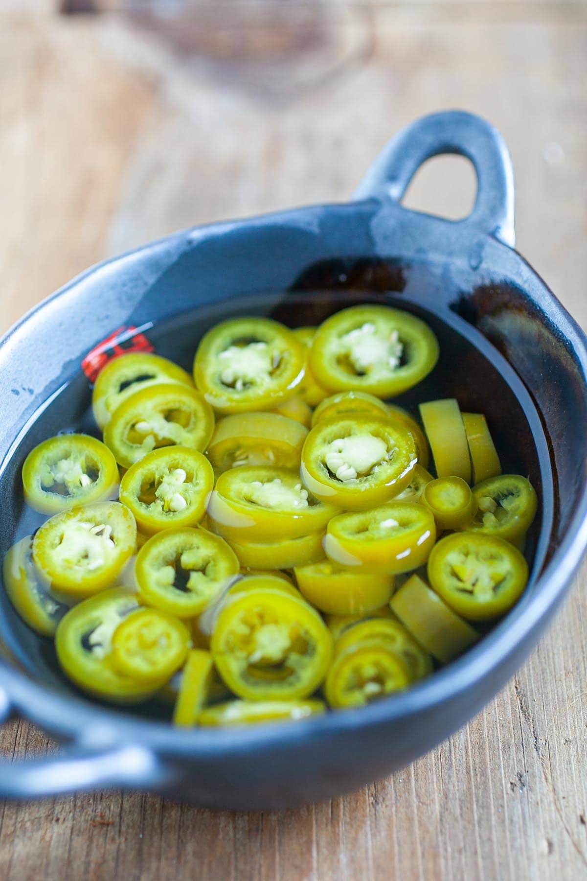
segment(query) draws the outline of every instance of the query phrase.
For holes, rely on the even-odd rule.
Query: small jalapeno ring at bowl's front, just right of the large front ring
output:
[[[407,663],[390,641],[363,640],[335,652],[324,694],[330,707],[363,707],[410,681]]]

